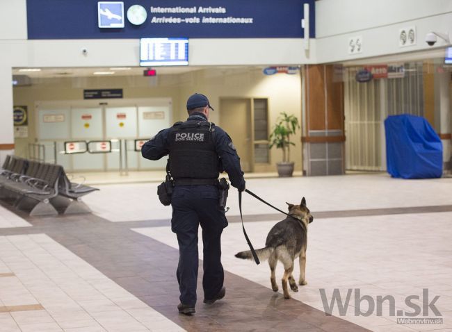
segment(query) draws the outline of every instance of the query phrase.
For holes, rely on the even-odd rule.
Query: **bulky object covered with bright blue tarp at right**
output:
[[[423,117],[391,115],[385,119],[387,172],[395,178],[442,176],[442,143]]]

